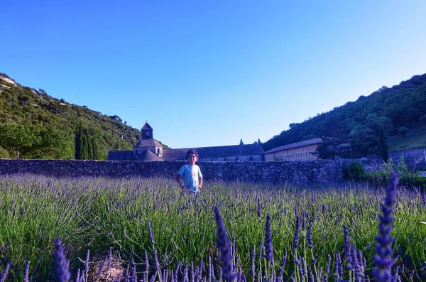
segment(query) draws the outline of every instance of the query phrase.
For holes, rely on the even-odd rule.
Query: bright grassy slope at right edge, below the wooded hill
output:
[[[409,128],[410,131],[403,136],[391,136],[388,139],[390,152],[403,151],[415,148],[426,148],[426,124],[416,124]]]

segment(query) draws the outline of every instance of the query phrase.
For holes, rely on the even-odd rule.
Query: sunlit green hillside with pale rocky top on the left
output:
[[[0,158],[14,158],[18,152],[20,158],[75,158],[80,122],[102,160],[108,151],[131,150],[141,139],[141,131],[119,116],[56,99],[0,73]]]

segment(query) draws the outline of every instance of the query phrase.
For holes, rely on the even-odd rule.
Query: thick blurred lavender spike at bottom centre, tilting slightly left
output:
[[[214,207],[214,214],[216,223],[217,223],[217,237],[218,244],[220,249],[220,259],[222,260],[222,276],[226,281],[234,281],[236,275],[233,271],[232,267],[232,258],[229,251],[229,240],[226,238],[226,228],[224,226],[224,222],[222,219],[222,215],[220,215],[219,207]]]

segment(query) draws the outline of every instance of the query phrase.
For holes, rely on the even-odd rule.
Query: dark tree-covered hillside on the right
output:
[[[359,157],[376,153],[384,158],[387,150],[425,146],[425,124],[426,74],[415,75],[390,88],[381,87],[368,96],[360,96],[355,102],[347,102],[300,124],[290,124],[290,129],[263,143],[263,148],[268,151],[320,137],[327,140],[324,148],[347,149],[337,154],[328,152],[324,157]],[[398,135],[407,129],[405,139]]]

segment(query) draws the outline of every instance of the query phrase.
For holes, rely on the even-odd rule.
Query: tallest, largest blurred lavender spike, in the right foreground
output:
[[[382,205],[383,215],[380,216],[380,223],[378,230],[380,235],[376,236],[376,256],[374,256],[374,264],[377,268],[373,270],[373,275],[378,282],[391,281],[391,265],[392,265],[392,227],[393,227],[393,206],[395,205],[395,198],[398,188],[398,175],[391,176],[391,184],[386,188],[385,202]]]

